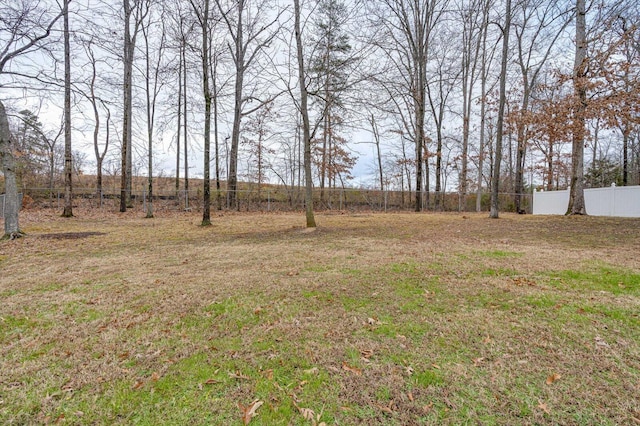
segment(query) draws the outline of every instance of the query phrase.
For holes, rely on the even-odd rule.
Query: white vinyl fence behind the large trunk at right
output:
[[[591,216],[640,217],[640,186],[611,186],[584,190]],[[533,193],[533,214],[565,214],[569,190]]]

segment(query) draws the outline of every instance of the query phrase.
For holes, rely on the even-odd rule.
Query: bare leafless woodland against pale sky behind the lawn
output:
[[[73,215],[78,173],[117,176],[121,211],[147,177],[149,217],[155,177],[198,175],[203,224],[241,183],[306,188],[308,226],[353,185],[416,211],[491,194],[492,217],[571,187],[587,214],[585,187],[640,181],[638,22],[626,0],[3,2],[5,234],[18,189]]]

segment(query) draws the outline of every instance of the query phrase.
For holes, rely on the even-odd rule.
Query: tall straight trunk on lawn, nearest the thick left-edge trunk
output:
[[[64,210],[62,217],[73,216],[73,164],[71,155],[71,47],[69,0],[64,1]]]

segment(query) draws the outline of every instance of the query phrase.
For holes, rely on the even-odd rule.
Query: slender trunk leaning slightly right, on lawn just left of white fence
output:
[[[507,86],[507,59],[509,54],[509,31],[511,29],[511,0],[507,0],[506,17],[504,28],[502,29],[502,61],[500,65],[500,100],[498,102],[498,122],[496,129],[496,149],[494,153],[493,176],[491,183],[491,212],[489,217],[497,219],[499,217],[500,205],[498,200],[500,187],[500,163],[502,161],[502,135],[504,124],[504,107],[506,103]]]

